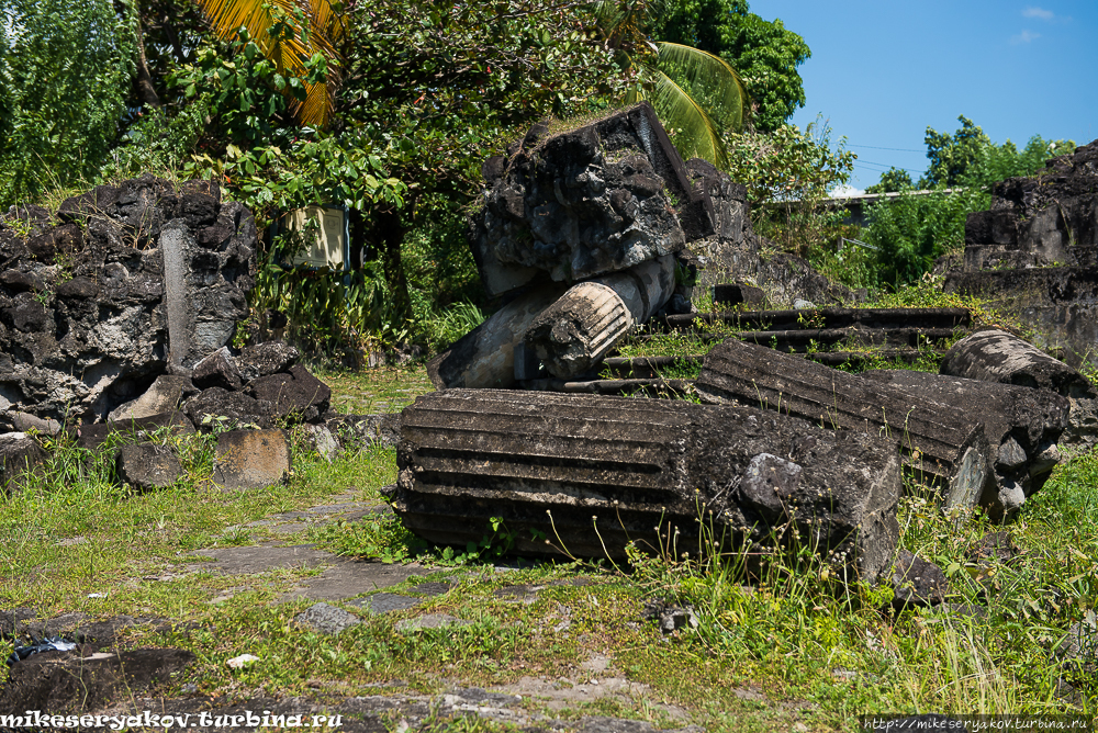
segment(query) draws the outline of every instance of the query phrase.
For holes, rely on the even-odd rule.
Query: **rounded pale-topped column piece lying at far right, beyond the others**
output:
[[[1096,396],[1094,386],[1077,370],[998,329],[977,331],[954,343],[940,371],[950,376],[1051,390],[1065,397]]]

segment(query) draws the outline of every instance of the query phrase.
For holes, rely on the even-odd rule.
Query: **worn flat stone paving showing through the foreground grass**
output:
[[[276,535],[296,534],[309,527],[322,527],[337,521],[354,521],[371,512],[391,511],[388,506],[378,506],[356,499],[354,493],[328,497],[325,504],[307,509],[271,515],[265,519],[229,527],[225,533],[247,531],[262,528]],[[287,538],[290,540],[290,538]],[[292,540],[291,540],[292,541]],[[288,602],[302,598],[316,601],[306,611],[295,618],[299,625],[312,628],[323,633],[339,633],[360,622],[360,617],[371,613],[389,613],[414,609],[424,601],[445,595],[468,578],[468,573],[453,573],[441,579],[437,571],[428,570],[416,563],[385,564],[381,562],[355,561],[340,557],[313,544],[284,544],[280,541],[268,541],[250,546],[215,546],[199,550],[194,555],[209,559],[208,562],[189,563],[165,576],[143,577],[144,580],[178,579],[184,575],[201,578],[202,574],[219,576],[256,576],[280,568],[320,568],[321,573],[303,577],[296,582],[296,587],[283,594],[274,602]],[[498,571],[508,568],[500,567]],[[408,578],[435,573],[436,579],[424,580],[401,594],[385,591],[385,588],[404,583]],[[583,585],[585,578],[557,580],[552,585],[570,583]],[[239,587],[223,589],[212,604],[228,600],[236,593],[246,589],[246,583]],[[498,588],[494,596],[507,602],[531,604],[538,593],[548,586],[511,585]],[[553,627],[557,633],[565,633],[570,628],[569,609],[558,609],[561,622]],[[399,633],[410,633],[418,629],[439,628],[445,625],[468,624],[470,621],[446,613],[424,613],[405,619],[396,624]],[[58,692],[57,675],[83,680],[83,688],[98,690],[104,706],[99,706],[97,713],[102,714],[141,714],[145,710],[157,710],[161,714],[191,714],[193,718],[187,728],[193,731],[224,730],[216,725],[216,717],[228,720],[228,715],[244,715],[235,730],[261,730],[246,723],[246,711],[256,713],[269,711],[278,714],[307,715],[343,715],[338,730],[340,731],[388,731],[391,722],[399,721],[396,730],[416,730],[421,724],[437,720],[438,715],[473,714],[501,723],[522,726],[526,731],[579,731],[582,733],[659,733],[649,723],[605,718],[581,717],[564,721],[545,714],[534,715],[518,704],[524,699],[535,699],[542,710],[550,713],[564,713],[576,706],[589,706],[600,701],[613,701],[627,707],[636,707],[643,702],[648,708],[657,708],[672,720],[685,720],[683,710],[674,706],[661,704],[656,693],[646,685],[628,680],[619,670],[613,667],[607,656],[593,655],[590,659],[576,666],[569,677],[542,679],[525,676],[518,681],[484,690],[467,687],[455,680],[450,689],[442,695],[418,695],[410,690],[402,680],[379,688],[374,696],[346,697],[327,695],[323,690],[315,698],[255,699],[247,704],[229,704],[222,700],[198,695],[186,695],[175,698],[150,699],[141,695],[142,689],[169,674],[169,669],[181,668],[188,661],[189,653],[178,650],[159,650],[165,658],[145,659],[142,672],[134,677],[132,659],[126,652],[115,649],[115,653],[99,652],[96,654],[98,667],[92,667],[87,656],[88,650],[108,649],[115,643],[115,634],[122,629],[134,624],[143,624],[154,629],[167,630],[179,624],[171,619],[115,617],[107,621],[96,621],[82,613],[67,613],[54,618],[40,618],[33,609],[0,610],[0,635],[25,636],[33,633],[37,638],[44,635],[60,635],[77,639],[90,644],[74,652],[49,652],[36,655],[33,665],[20,663],[13,668],[13,683],[9,684],[0,695],[0,707],[22,710],[27,700],[52,700],[54,704],[63,701],[54,699]],[[183,624],[184,627],[187,624]],[[181,656],[182,655],[182,656]],[[46,658],[56,657],[56,658]],[[49,664],[46,664],[49,663]],[[15,669],[20,678],[15,680]],[[113,665],[113,666],[112,666]],[[128,666],[127,666],[128,665]],[[122,669],[125,667],[125,674]],[[105,672],[104,672],[105,670]],[[88,680],[89,674],[94,679]],[[141,675],[145,677],[142,678]],[[115,687],[111,687],[114,685]],[[76,689],[76,688],[74,688]],[[125,693],[119,695],[117,692]],[[111,699],[123,699],[124,702],[105,704]],[[208,713],[212,718],[199,718]],[[222,722],[224,722],[224,720]],[[203,721],[213,721],[204,725]],[[388,721],[388,722],[386,722]],[[684,723],[685,724],[685,723]],[[390,725],[390,728],[386,728]],[[682,733],[699,732],[696,726],[676,728]]]

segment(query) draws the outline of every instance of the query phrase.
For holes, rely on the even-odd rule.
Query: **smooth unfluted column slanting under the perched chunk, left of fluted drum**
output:
[[[491,318],[450,345],[427,362],[427,376],[436,390],[492,387],[506,390],[515,384],[515,347],[526,329],[564,286],[536,287],[503,306]]]

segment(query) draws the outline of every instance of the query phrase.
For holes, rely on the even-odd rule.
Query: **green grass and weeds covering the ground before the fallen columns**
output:
[[[351,374],[344,379],[356,380]],[[362,392],[350,394],[379,388],[377,374],[359,379]],[[384,384],[391,394],[418,388],[414,377]],[[946,571],[950,602],[986,608],[986,616],[968,618],[882,611],[889,590],[848,589],[806,554],[775,560],[748,585],[736,556],[683,562],[636,555],[625,572],[547,563],[498,573],[485,561],[496,561],[501,538],[447,553],[426,546],[384,515],[279,537],[264,527],[243,526],[322,504],[335,494],[380,500],[378,490],[395,480],[395,451],[373,449],[328,464],[299,448],[285,485],[228,494],[206,481],[205,459],[195,451],[192,476],[161,492],[134,496],[86,474],[67,486],[40,482],[4,499],[4,607],[31,606],[47,614],[83,611],[97,618],[170,617],[182,625],[168,632],[128,629],[123,643],[194,652],[197,664],[172,689],[193,684],[203,695],[378,695],[379,688],[370,685],[392,680],[404,680],[412,691],[436,693],[453,685],[506,685],[523,676],[573,684],[581,679],[578,662],[597,653],[613,658],[617,674],[649,686],[642,699],[575,702],[563,711],[537,699],[523,704],[568,720],[609,714],[658,728],[694,723],[714,731],[792,730],[795,724],[854,730],[856,715],[873,712],[1095,711],[1094,680],[1077,669],[1062,669],[1052,654],[1066,629],[1098,600],[1094,453],[1058,467],[1027,503],[1009,527],[1023,553],[1006,565],[967,560],[983,533],[997,529],[986,519],[955,526],[926,497],[904,499],[903,546]],[[242,529],[227,531],[229,527]],[[77,538],[79,543],[65,542]],[[271,540],[317,542],[355,557],[416,560],[433,570],[427,578],[410,579],[386,588],[389,593],[411,593],[424,579],[458,584],[415,609],[363,614],[362,624],[325,636],[292,621],[313,601],[277,602],[318,571],[184,574],[186,566],[201,562],[197,550]],[[561,583],[578,576],[591,584]],[[545,587],[530,604],[496,596],[501,587],[515,584]],[[692,605],[699,628],[663,636],[654,622],[642,619],[643,604],[652,598]],[[425,612],[473,624],[396,631],[401,620]],[[565,618],[570,627],[552,631]],[[244,653],[260,662],[228,669],[225,661]],[[1074,701],[1056,697],[1061,676],[1077,686]],[[663,702],[684,710],[685,719],[668,718]],[[397,722],[390,721],[391,726]],[[439,718],[430,724],[439,731],[505,730],[478,719]]]

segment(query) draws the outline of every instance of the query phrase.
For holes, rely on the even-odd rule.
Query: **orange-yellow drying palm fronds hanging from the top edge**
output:
[[[194,0],[223,41],[243,26],[279,74],[306,78],[323,60],[324,81],[305,82],[305,100],[291,97],[294,117],[323,129],[332,119],[339,82],[336,44],[346,27],[328,0]],[[288,94],[289,95],[289,94]]]

